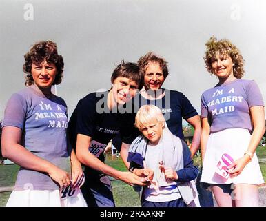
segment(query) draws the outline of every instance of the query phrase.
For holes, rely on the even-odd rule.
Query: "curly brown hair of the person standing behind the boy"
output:
[[[141,75],[144,77],[149,62],[158,62],[160,67],[163,69],[163,77],[166,79],[166,77],[169,75],[167,61],[165,61],[163,57],[156,55],[154,52],[148,52],[139,59],[138,65]]]

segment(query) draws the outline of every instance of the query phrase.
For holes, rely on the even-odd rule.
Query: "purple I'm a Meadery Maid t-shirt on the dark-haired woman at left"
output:
[[[61,97],[45,97],[32,86],[14,93],[6,106],[2,126],[21,128],[21,144],[28,151],[70,171],[67,106]],[[14,189],[54,190],[59,186],[47,173],[21,167]]]

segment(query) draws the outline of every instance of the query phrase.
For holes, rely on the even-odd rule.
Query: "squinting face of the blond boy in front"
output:
[[[151,144],[158,144],[160,141],[161,135],[163,133],[163,126],[160,122],[150,124],[141,129],[143,135],[150,140]]]

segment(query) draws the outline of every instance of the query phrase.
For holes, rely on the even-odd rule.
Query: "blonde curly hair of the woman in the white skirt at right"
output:
[[[205,44],[206,51],[205,57],[205,67],[209,73],[212,73],[212,57],[215,57],[216,52],[221,55],[229,55],[234,63],[233,72],[234,77],[241,79],[244,75],[244,59],[241,52],[236,48],[234,44],[228,39],[221,39],[218,41],[215,36],[212,36],[209,41]],[[213,74],[213,73],[212,73]]]

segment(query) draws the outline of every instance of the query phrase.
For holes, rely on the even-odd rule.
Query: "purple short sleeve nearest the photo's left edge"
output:
[[[6,105],[2,126],[16,126],[23,130],[26,111],[25,98],[17,93],[12,95]]]

